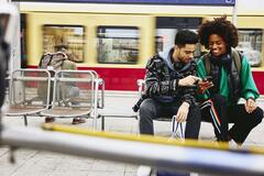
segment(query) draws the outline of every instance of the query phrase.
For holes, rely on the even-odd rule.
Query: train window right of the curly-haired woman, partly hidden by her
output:
[[[239,45],[237,50],[246,56],[251,66],[257,67],[262,65],[262,30],[239,30]]]

